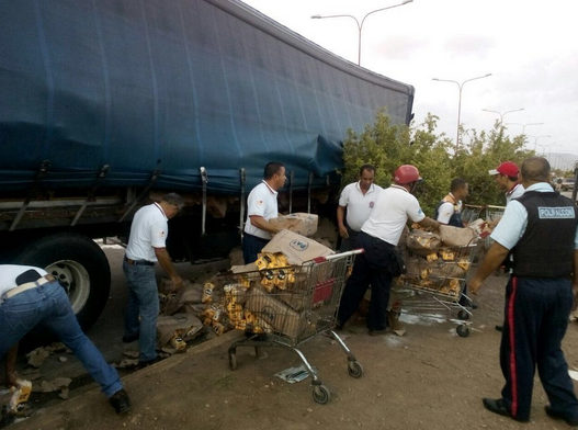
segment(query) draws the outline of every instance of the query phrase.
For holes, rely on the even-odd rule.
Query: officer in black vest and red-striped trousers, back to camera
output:
[[[578,426],[578,400],[560,347],[574,302],[573,284],[578,287],[578,214],[569,199],[553,192],[548,179],[546,159],[531,157],[522,163],[525,193],[506,207],[491,234],[495,242],[469,287],[477,294],[484,280],[512,254],[500,346],[506,384],[501,398],[485,398],[484,406],[529,421],[537,365],[549,399],[546,414]]]

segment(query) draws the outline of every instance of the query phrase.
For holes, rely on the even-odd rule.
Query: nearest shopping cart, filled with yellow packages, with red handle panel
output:
[[[247,339],[229,348],[229,369],[237,369],[237,348],[282,347],[295,351],[311,376],[313,398],[329,401],[330,392],[297,347],[319,333],[336,340],[348,357],[348,373],[361,377],[363,367],[333,331],[348,271],[358,249],[317,258],[299,267],[268,268],[254,272],[217,276],[229,321],[245,330]],[[273,258],[271,258],[273,259]]]

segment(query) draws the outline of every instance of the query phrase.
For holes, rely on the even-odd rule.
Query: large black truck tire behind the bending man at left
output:
[[[26,244],[14,262],[43,268],[57,278],[84,331],[106,305],[111,268],[102,249],[87,236],[60,233],[42,237]]]

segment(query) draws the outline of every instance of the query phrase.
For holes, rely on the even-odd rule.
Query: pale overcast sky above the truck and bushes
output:
[[[401,0],[245,0],[326,49],[358,63],[358,26],[372,10]],[[371,14],[362,27],[361,65],[416,88],[415,120],[440,117],[438,131],[455,142],[458,84],[465,80],[466,128],[528,125],[529,149],[578,155],[578,25],[571,0],[413,0]],[[520,112],[510,112],[518,109]],[[483,109],[499,113],[484,112]],[[511,136],[522,125],[507,125]],[[541,137],[549,135],[552,137]],[[467,139],[467,137],[464,137]],[[555,160],[553,165],[555,163]]]

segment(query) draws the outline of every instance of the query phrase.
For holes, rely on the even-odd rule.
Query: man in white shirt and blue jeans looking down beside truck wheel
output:
[[[160,203],[139,208],[133,218],[123,271],[129,287],[123,342],[139,339],[140,355],[137,369],[157,361],[157,316],[159,297],[155,263],[170,276],[178,290],[183,280],[177,273],[166,248],[168,220],[183,207],[183,199],[167,194]]]

